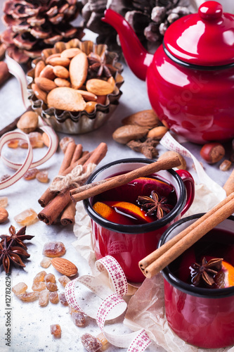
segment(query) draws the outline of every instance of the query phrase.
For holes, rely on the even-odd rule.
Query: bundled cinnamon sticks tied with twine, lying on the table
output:
[[[71,142],[70,144],[74,143]],[[100,163],[100,161],[104,158],[105,154],[108,151],[107,145],[105,143],[101,143],[93,152],[84,152],[83,155],[83,153],[78,151],[80,147],[78,148],[78,146],[75,145],[70,146],[70,144],[68,144],[70,149],[66,153],[67,156],[65,156],[65,158],[63,159],[63,163],[60,167],[60,175],[67,175],[67,170],[72,170],[76,165],[84,165],[84,168],[90,163],[98,165],[98,163]],[[81,158],[77,160],[78,156],[81,156]],[[73,161],[73,165],[67,167],[69,163],[67,162],[67,160],[65,160],[66,157],[70,160],[71,164]],[[63,220],[63,225],[65,225],[66,222],[74,222],[73,214],[75,207],[69,206],[69,203],[71,201],[71,189],[74,189],[74,184],[70,184],[69,187],[63,189],[63,191],[60,191],[58,194],[56,194],[56,196],[54,196],[53,199],[51,199],[46,204],[44,209],[41,210],[41,212],[38,214],[39,220],[45,222],[46,225],[53,224],[58,220],[58,218],[61,218],[61,220]]]

